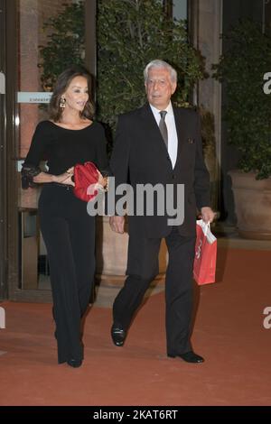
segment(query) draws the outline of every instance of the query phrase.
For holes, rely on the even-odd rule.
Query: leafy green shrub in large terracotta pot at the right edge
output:
[[[229,48],[213,76],[226,84],[228,141],[239,154],[238,170],[229,172],[238,233],[271,239],[271,96],[263,90],[271,70],[271,36],[259,23],[244,20],[225,38]]]

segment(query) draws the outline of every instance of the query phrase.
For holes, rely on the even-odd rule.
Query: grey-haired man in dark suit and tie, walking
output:
[[[204,361],[193,352],[190,342],[196,207],[205,222],[214,218],[209,174],[202,158],[200,118],[191,109],[172,106],[177,74],[168,63],[153,60],[144,75],[148,104],[119,117],[110,168],[116,186],[129,183],[136,189],[138,184],[151,183],[166,188],[172,184],[176,189],[184,184],[184,220],[178,226],[169,225],[167,212],[163,216],[129,217],[128,277],[114,302],[111,336],[116,346],[124,345],[135,310],[158,273],[164,237],[169,252],[165,278],[167,355],[196,364]],[[124,221],[121,216],[110,217],[113,231],[123,233]]]

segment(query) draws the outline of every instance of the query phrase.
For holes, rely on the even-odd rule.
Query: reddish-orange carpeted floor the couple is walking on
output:
[[[220,249],[220,282],[195,293],[204,364],[166,357],[164,293],[146,301],[123,348],[109,337],[111,310],[90,310],[78,369],[57,364],[51,305],[2,303],[0,404],[271,405],[270,264],[270,251]]]

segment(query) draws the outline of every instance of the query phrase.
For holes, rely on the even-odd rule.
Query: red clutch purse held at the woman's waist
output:
[[[95,189],[95,184],[98,183],[98,168],[93,162],[75,165],[73,180],[73,193],[80,200],[88,202],[98,195],[98,189]]]

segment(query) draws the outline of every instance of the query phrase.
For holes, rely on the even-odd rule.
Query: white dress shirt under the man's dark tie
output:
[[[156,107],[151,106],[152,112],[154,114],[155,121],[157,125],[159,126],[161,115],[160,110],[156,109]],[[173,114],[173,106],[172,102],[169,103],[169,105],[163,109],[166,110],[167,114],[165,115],[164,122],[167,127],[167,135],[168,135],[168,154],[171,158],[173,168],[175,166],[176,160],[177,160],[177,151],[178,151],[178,136],[176,131],[176,125],[175,125],[175,119]]]

